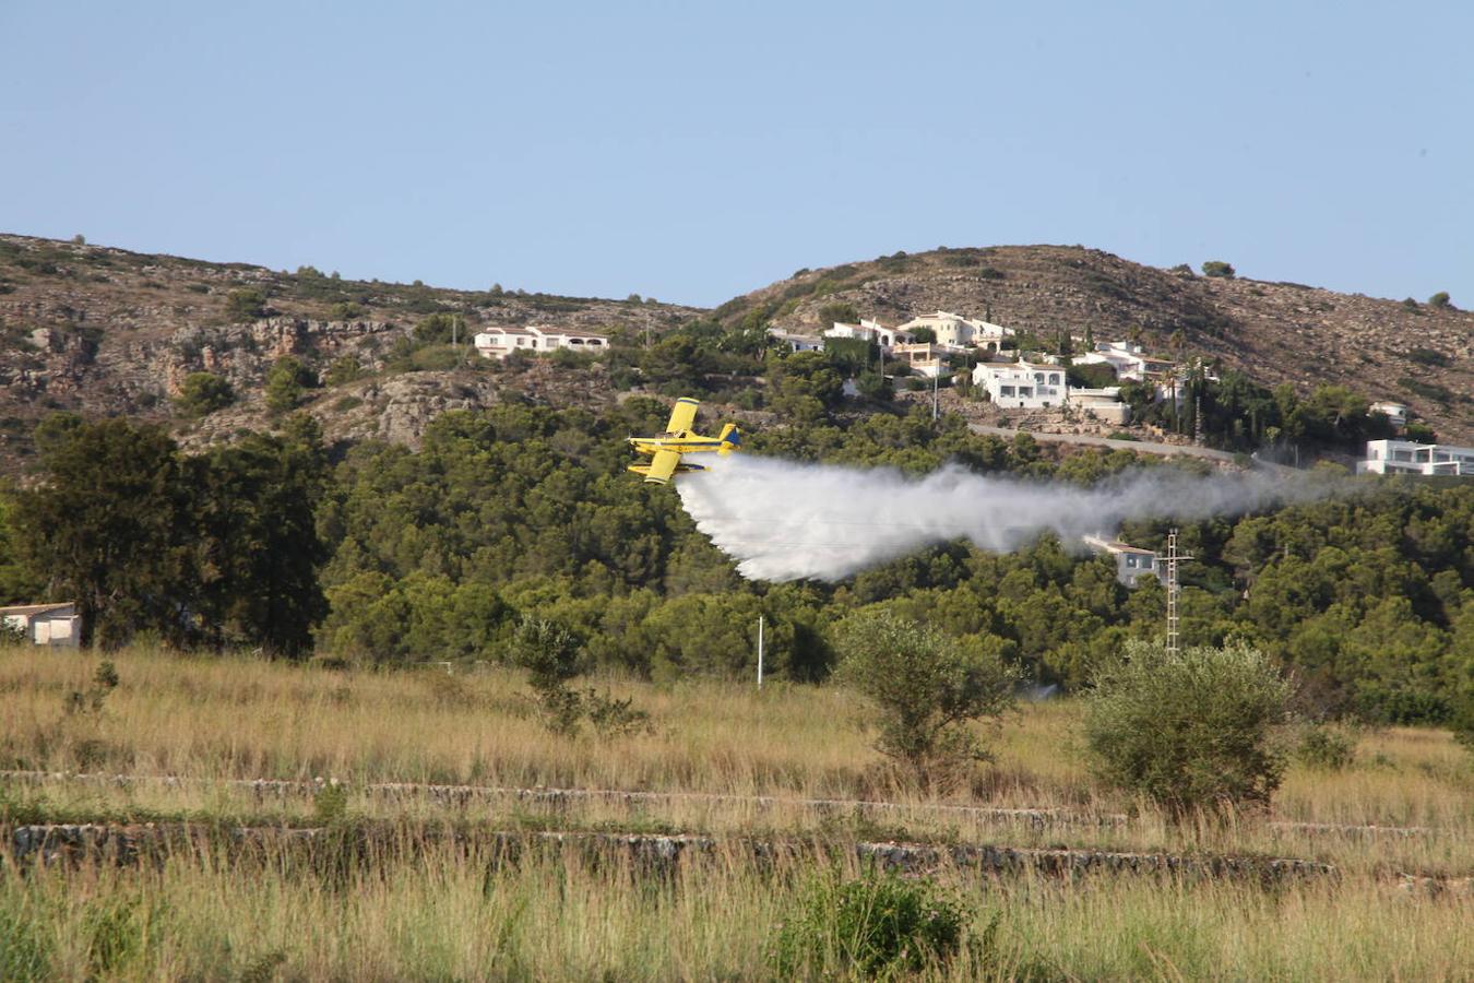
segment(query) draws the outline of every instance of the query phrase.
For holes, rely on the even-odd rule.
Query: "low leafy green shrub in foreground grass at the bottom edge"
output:
[[[786,980],[937,971],[963,951],[964,942],[986,956],[996,921],[968,940],[971,918],[965,905],[930,878],[907,880],[874,870],[845,881],[820,874],[783,923],[769,962]]]

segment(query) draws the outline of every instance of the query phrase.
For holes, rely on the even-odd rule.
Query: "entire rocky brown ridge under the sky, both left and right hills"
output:
[[[1138,336],[1263,383],[1344,383],[1368,398],[1406,402],[1443,439],[1474,444],[1474,314],[1156,270],[1082,248],[896,253],[803,270],[709,312],[637,298],[366,283],[310,267],[276,273],[0,236],[0,470],[25,466],[31,427],[52,410],[170,421],[186,444],[259,427],[267,371],[287,354],[324,374],[348,365],[307,404],[338,441],[413,444],[436,413],[509,393],[590,407],[616,398],[600,365],[492,365],[447,345],[411,346],[416,326],[436,312],[457,315],[467,333],[537,323],[634,343],[703,315],[812,332],[836,304],[887,323],[943,308],[1045,339],[1086,329],[1098,340]],[[236,402],[203,420],[184,419],[175,396],[195,371],[228,379]]]

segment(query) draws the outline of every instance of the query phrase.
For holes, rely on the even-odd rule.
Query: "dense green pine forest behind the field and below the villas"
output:
[[[775,399],[806,411],[755,433],[749,452],[1076,483],[1178,466],[1126,451],[1054,458],[1026,436],[920,413],[831,416],[830,370],[787,361]],[[1160,585],[1128,591],[1110,562],[1049,536],[1004,556],[939,544],[836,585],[747,582],[674,489],[624,472],[622,438],[666,414],[652,398],[604,416],[453,411],[419,451],[361,444],[336,463],[301,416],[205,455],[149,426],[55,417],[37,433],[46,482],[0,506],[0,590],[77,597],[105,646],[152,632],[383,665],[500,660],[517,616],[537,613],[578,632],[600,665],[657,681],[747,672],[759,613],[771,671],[799,681],[828,674],[830,626],[870,606],[1064,687],[1162,632]],[[1164,534],[1123,531],[1145,547]],[[1474,486],[1412,480],[1184,525],[1197,557],[1182,575],[1184,643],[1263,647],[1313,712],[1446,719],[1474,687],[1471,534]]]

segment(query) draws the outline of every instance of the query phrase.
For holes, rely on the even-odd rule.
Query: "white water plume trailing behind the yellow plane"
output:
[[[705,463],[705,461],[703,461]],[[1243,514],[1331,489],[1307,476],[1195,476],[1131,470],[1091,488],[974,475],[948,466],[924,477],[892,469],[734,455],[677,480],[696,526],[753,581],[839,581],[933,542],[965,536],[1008,553],[1054,532],[1113,534],[1128,519]]]

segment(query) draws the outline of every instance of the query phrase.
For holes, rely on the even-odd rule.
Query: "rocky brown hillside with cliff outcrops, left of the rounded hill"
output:
[[[308,405],[338,439],[413,442],[435,413],[486,405],[509,388],[557,399],[613,398],[607,386],[590,385],[597,373],[567,379],[532,367],[509,379],[488,373],[475,354],[455,358],[442,348],[405,357],[401,339],[436,312],[458,315],[464,332],[556,324],[638,337],[703,311],[634,298],[366,283],[312,268],[276,273],[0,236],[0,467],[24,466],[34,421],[53,410],[168,420],[187,444],[261,426],[265,374],[289,354],[318,370],[349,357],[367,376]],[[199,423],[180,419],[172,399],[193,371],[228,379],[237,402]]]

